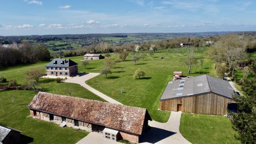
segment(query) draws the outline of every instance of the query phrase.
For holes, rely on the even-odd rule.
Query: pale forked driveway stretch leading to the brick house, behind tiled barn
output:
[[[98,76],[99,74],[100,73],[83,73],[83,74],[80,74],[80,76],[74,76],[70,79],[65,80],[64,82],[80,84],[84,88],[90,90],[92,93],[96,94],[97,96],[103,98],[104,100],[106,100],[108,102],[111,102],[114,104],[122,104],[122,103],[114,100],[113,98],[110,98],[110,97],[106,96],[105,94],[99,92],[98,90],[95,90],[94,88],[90,87],[88,84],[85,83],[86,80],[89,80],[95,76]]]

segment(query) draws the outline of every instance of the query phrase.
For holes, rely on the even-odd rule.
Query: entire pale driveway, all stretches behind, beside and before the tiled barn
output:
[[[84,73],[80,76],[75,76],[73,78],[67,79],[64,82],[76,83],[80,84],[84,88],[90,90],[97,96],[107,100],[108,102],[115,104],[122,104],[105,94],[95,90],[86,84],[86,80],[98,76],[100,73]],[[151,121],[148,124],[151,127],[150,132],[144,134],[140,137],[141,144],[191,144],[186,140],[182,134],[180,134],[180,118],[182,112],[171,112],[170,118],[168,122],[161,123],[156,121]],[[86,137],[82,138],[77,144],[120,144],[119,142],[115,142],[112,140],[107,140],[102,138],[101,134],[90,132]]]

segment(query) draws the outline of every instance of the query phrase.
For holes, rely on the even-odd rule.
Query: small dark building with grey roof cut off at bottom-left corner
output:
[[[0,126],[0,144],[19,144],[21,131]]]

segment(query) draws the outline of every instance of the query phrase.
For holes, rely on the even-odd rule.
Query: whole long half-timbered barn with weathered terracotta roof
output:
[[[35,118],[133,143],[139,142],[140,135],[148,131],[148,120],[152,120],[145,108],[46,92],[38,92],[28,108]]]

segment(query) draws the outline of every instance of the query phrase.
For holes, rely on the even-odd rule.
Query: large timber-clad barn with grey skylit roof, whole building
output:
[[[160,109],[226,115],[228,103],[234,102],[233,94],[226,80],[209,75],[170,81],[160,98]]]

